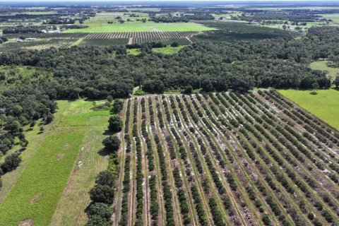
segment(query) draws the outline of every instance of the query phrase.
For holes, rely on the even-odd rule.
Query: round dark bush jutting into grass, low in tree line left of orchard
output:
[[[90,200],[95,203],[106,203],[111,205],[114,199],[114,189],[107,186],[96,184],[93,189],[90,189]]]

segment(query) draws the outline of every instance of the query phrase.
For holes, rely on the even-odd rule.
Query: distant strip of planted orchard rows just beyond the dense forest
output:
[[[162,42],[179,45],[191,44],[191,37],[198,35],[198,31],[169,31],[169,32],[99,32],[99,33],[61,33],[61,34],[20,34],[23,37],[35,37],[36,41],[5,42],[0,44],[0,52],[13,52],[16,49],[49,49],[66,48],[80,44],[81,46],[108,46],[111,44],[143,44],[150,42]],[[8,35],[16,38],[19,35]]]

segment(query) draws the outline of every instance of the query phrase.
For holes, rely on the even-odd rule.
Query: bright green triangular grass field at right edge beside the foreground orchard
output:
[[[338,90],[318,90],[316,95],[311,95],[310,90],[279,90],[279,93],[339,130]]]

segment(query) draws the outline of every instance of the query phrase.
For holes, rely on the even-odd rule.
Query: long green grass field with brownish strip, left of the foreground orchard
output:
[[[34,129],[27,136],[30,144],[22,154],[21,170],[3,177],[5,188],[7,181],[14,182],[12,187],[4,189],[7,195],[3,195],[0,204],[0,225],[18,225],[24,220],[34,220],[34,225],[49,225],[56,208],[60,212],[54,215],[53,225],[85,222],[83,210],[89,202],[88,189],[93,186],[94,174],[105,167],[104,157],[97,152],[109,112],[93,111],[92,103],[85,100],[58,101],[58,106],[55,121],[46,126],[44,133],[37,134]],[[84,169],[77,169],[79,160]],[[92,160],[102,165],[94,167]],[[16,175],[14,179],[12,173]],[[67,201],[58,206],[60,198]]]

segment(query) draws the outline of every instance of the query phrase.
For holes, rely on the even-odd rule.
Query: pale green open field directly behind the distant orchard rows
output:
[[[83,25],[88,25],[90,28],[69,29],[66,33],[90,33],[90,32],[150,32],[150,31],[202,31],[213,30],[198,23],[154,23],[141,21],[125,22],[125,23],[107,23],[105,20],[85,20]]]

